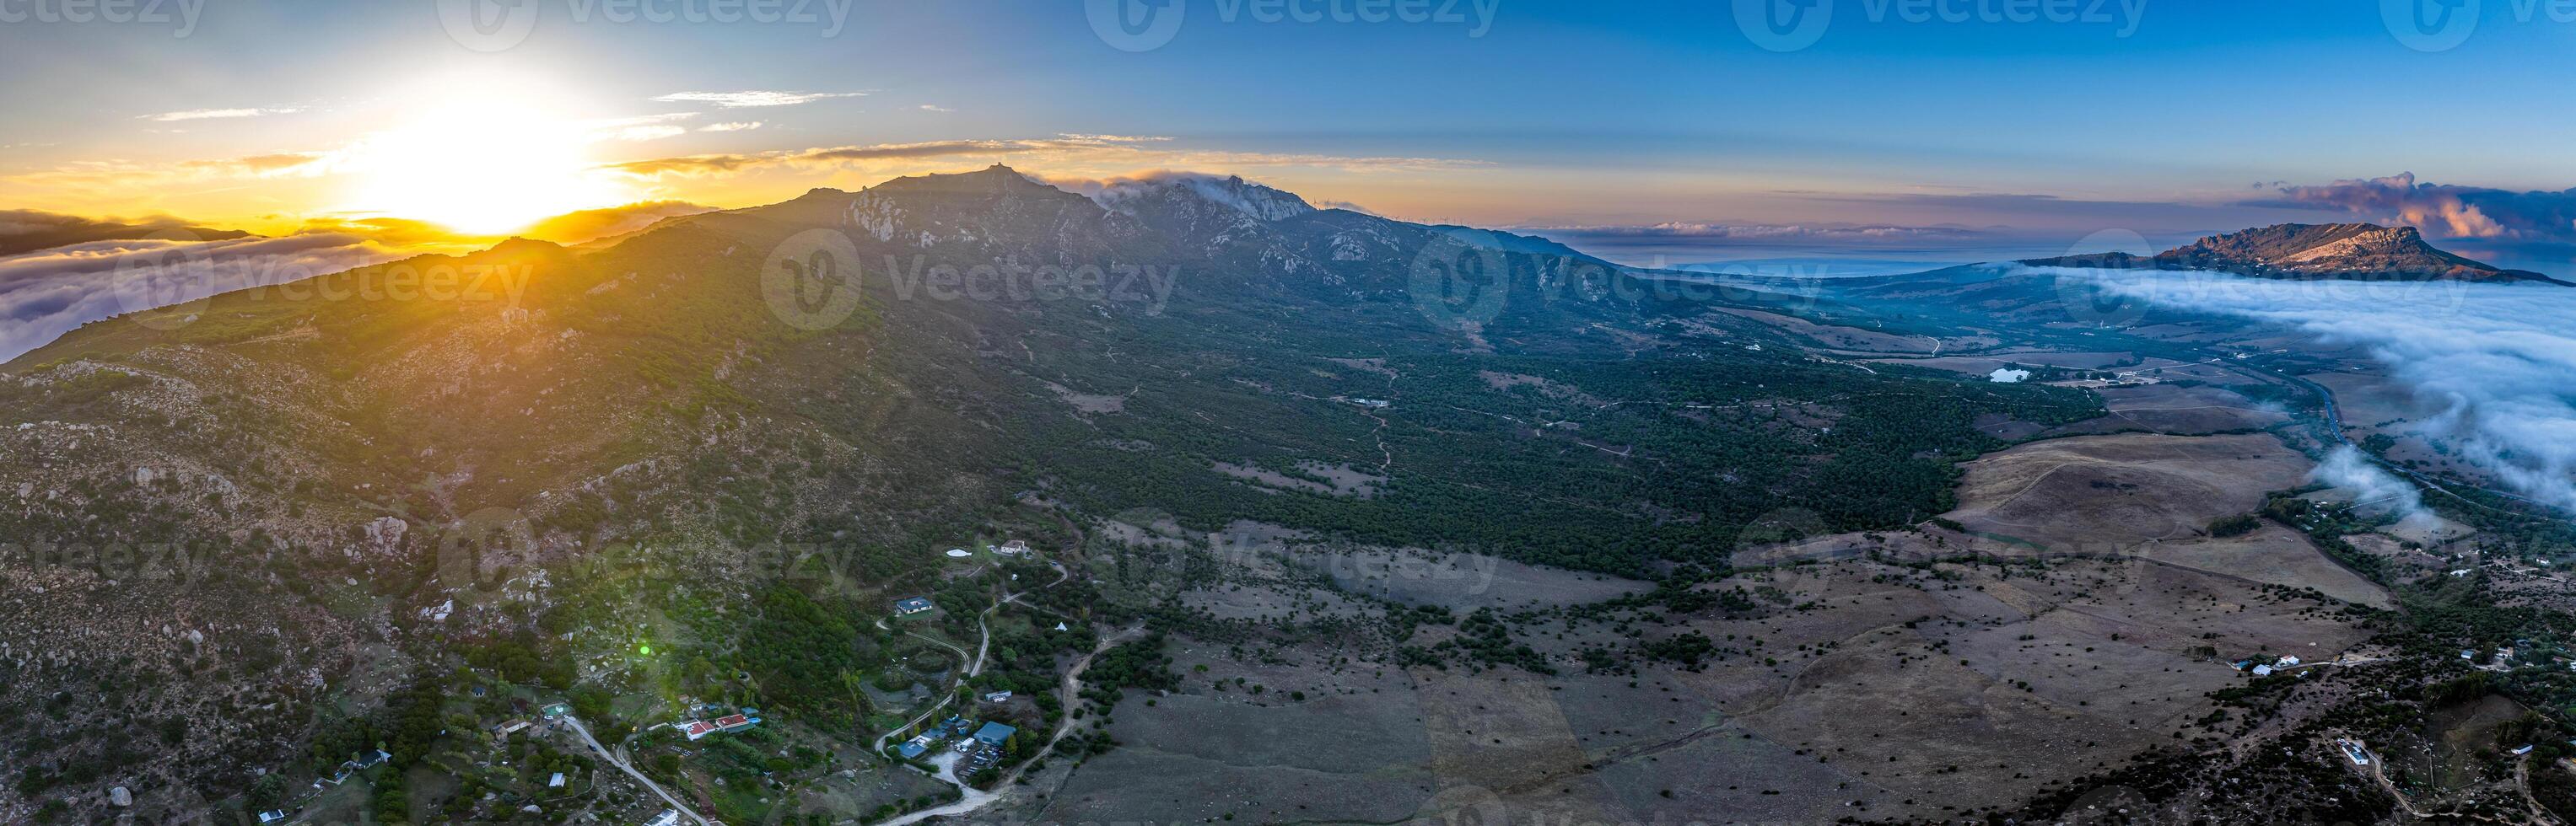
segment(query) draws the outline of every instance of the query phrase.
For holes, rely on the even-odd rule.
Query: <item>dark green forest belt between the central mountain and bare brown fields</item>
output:
[[[1757,353],[1386,358],[1399,378],[1247,355],[1226,371],[1236,381],[1157,386],[1121,417],[1046,430],[1059,443],[1041,476],[1092,509],[1154,507],[1190,528],[1252,517],[1633,576],[1651,561],[1705,561],[1783,509],[1816,515],[1821,530],[1909,525],[1950,507],[1955,461],[2004,445],[1976,430],[1981,417],[2099,414],[2081,391]],[[1311,401],[1252,404],[1244,386]],[[1324,399],[1334,394],[1394,407]],[[1211,425],[1193,414],[1206,409],[1229,414]],[[1337,497],[1213,471],[1252,463],[1298,479],[1306,461],[1381,481]]]

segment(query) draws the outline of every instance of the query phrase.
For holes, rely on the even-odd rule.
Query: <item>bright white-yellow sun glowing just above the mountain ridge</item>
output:
[[[420,108],[353,149],[353,211],[469,234],[507,234],[549,216],[616,206],[634,190],[598,170],[592,129],[536,98],[492,90]]]

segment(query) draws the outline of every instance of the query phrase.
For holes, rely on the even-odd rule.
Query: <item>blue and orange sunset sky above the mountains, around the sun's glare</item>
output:
[[[59,5],[10,3],[0,10]],[[587,131],[580,154],[600,167],[724,160],[626,170],[605,188],[621,201],[747,206],[999,160],[1061,178],[1242,172],[1314,201],[1674,262],[1963,260],[2058,252],[2105,229],[2161,244],[2331,219],[2414,219],[2455,247],[2555,262],[2576,237],[2553,201],[2522,198],[2576,183],[2563,152],[2576,108],[2561,106],[2576,23],[2545,8],[2524,21],[2514,0],[2450,0],[2478,23],[2439,51],[2409,46],[2375,0],[1814,0],[1832,18],[1793,51],[1765,49],[1734,3],[1430,0],[1458,21],[1417,23],[1329,21],[1396,3],[1167,3],[1180,26],[1144,51],[1100,36],[1084,3],[858,3],[832,31],[832,0],[806,5],[811,23],[618,23],[634,5],[536,0],[533,28],[497,51],[451,36],[435,0],[209,0],[185,36],[188,21],[0,21],[0,69],[18,80],[0,87],[0,208],[399,214],[399,198],[350,196],[368,167],[350,147],[433,100],[500,147],[513,131],[562,142],[564,129],[456,108],[518,95],[531,106],[513,118],[623,124]],[[1265,8],[1327,21],[1262,21]],[[2050,8],[2076,18],[2045,21]],[[848,98],[654,100],[750,90]],[[165,118],[178,113],[198,116]],[[835,147],[917,149],[806,157]],[[252,157],[268,162],[240,162]],[[2414,183],[2393,201],[2324,190],[2401,172]],[[2478,221],[2460,203],[2543,214]]]

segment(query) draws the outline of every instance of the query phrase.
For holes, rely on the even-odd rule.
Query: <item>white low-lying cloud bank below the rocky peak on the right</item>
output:
[[[2452,445],[2522,497],[2576,509],[2568,479],[2576,468],[2576,288],[2058,273],[2094,278],[2099,291],[2148,306],[2236,314],[2360,345],[2439,409],[2403,427]],[[2347,471],[2360,479],[2357,468]]]

